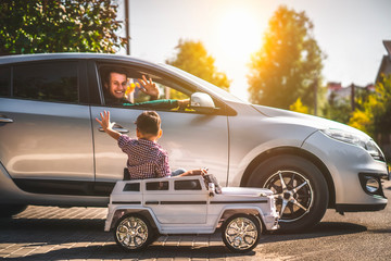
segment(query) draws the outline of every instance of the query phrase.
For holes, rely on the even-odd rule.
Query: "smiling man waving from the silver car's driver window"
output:
[[[125,91],[127,88],[127,75],[126,71],[122,69],[113,69],[103,78],[103,90],[105,103],[109,105],[133,105],[143,107],[150,109],[175,109],[186,108],[189,104],[189,99],[173,100],[162,99],[159,100],[160,90],[150,77],[147,79],[146,75],[142,75],[142,79],[138,79],[140,85],[136,85],[142,92],[150,96],[149,101],[130,103],[126,100]]]

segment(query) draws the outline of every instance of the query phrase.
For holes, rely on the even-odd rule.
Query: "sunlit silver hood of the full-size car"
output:
[[[369,138],[368,135],[366,135],[365,133],[363,133],[354,127],[351,127],[345,124],[335,122],[331,120],[327,120],[324,117],[308,115],[308,114],[304,114],[304,113],[300,113],[300,112],[287,111],[287,110],[282,110],[282,109],[264,107],[264,105],[252,105],[252,107],[256,111],[261,112],[262,114],[264,114],[266,116],[280,117],[285,122],[292,122],[294,124],[301,124],[301,125],[305,125],[305,126],[313,127],[316,129],[327,129],[327,128],[342,129],[342,130],[346,130],[352,134],[356,134],[356,135],[365,136],[365,137]]]

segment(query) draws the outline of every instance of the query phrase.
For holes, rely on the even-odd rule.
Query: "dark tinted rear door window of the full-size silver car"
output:
[[[13,67],[13,96],[41,101],[78,102],[77,62]]]

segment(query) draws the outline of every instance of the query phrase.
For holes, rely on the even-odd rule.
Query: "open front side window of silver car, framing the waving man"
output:
[[[191,96],[184,86],[151,71],[105,64],[99,66],[99,75],[104,103],[110,107],[175,111],[180,109],[178,100],[188,100]],[[142,91],[142,76],[153,80],[160,91],[159,97]]]

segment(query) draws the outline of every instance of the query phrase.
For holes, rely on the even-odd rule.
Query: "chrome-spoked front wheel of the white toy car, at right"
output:
[[[232,252],[248,252],[260,241],[262,226],[252,215],[236,214],[227,219],[222,227],[222,237]]]

